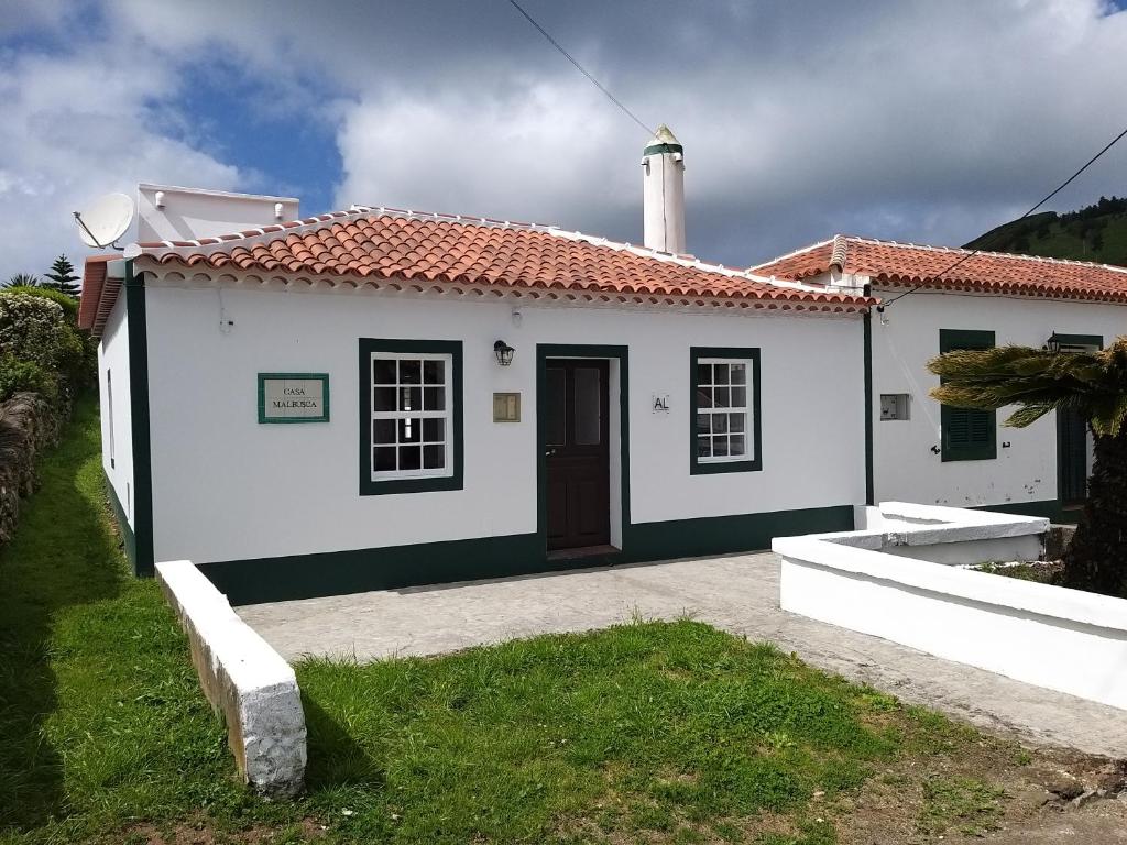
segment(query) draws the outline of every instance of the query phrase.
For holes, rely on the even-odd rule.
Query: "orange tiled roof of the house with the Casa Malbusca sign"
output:
[[[355,287],[505,288],[576,301],[715,304],[795,311],[863,311],[875,300],[707,265],[691,256],[565,232],[554,226],[360,208],[238,234],[140,243],[145,267],[184,267]],[[410,284],[403,284],[405,282]],[[500,291],[498,291],[500,292]]]

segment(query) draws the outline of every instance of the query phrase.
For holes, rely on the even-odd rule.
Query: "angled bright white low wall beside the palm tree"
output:
[[[1047,519],[900,502],[873,516],[772,543],[784,611],[1127,709],[1127,601],[950,566],[1015,560],[980,555],[1040,542]],[[941,562],[890,553],[903,549]]]

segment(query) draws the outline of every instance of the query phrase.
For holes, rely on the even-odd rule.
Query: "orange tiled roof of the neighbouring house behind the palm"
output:
[[[957,261],[960,263],[952,268]],[[751,270],[763,276],[800,281],[826,273],[831,267],[869,276],[873,283],[890,286],[1127,302],[1127,268],[1124,267],[921,247],[841,234],[756,265]]]

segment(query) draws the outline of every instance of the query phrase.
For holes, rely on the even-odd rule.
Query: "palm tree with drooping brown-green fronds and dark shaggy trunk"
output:
[[[1092,353],[961,349],[940,355],[928,368],[943,380],[931,395],[944,404],[1017,406],[1008,426],[1024,428],[1070,408],[1088,419],[1094,444],[1088,501],[1058,582],[1127,598],[1127,336]]]

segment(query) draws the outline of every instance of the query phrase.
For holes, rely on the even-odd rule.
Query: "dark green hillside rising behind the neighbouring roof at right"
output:
[[[1080,211],[1004,223],[966,248],[1127,266],[1127,197],[1100,197]]]

